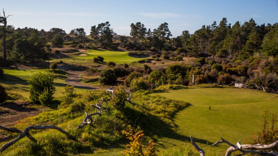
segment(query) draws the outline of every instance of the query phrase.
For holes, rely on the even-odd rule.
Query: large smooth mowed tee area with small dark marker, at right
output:
[[[262,129],[261,114],[278,114],[278,96],[240,88],[193,88],[152,93],[192,104],[175,116],[178,133],[209,142],[221,137],[236,143]],[[211,110],[209,110],[211,106]]]

